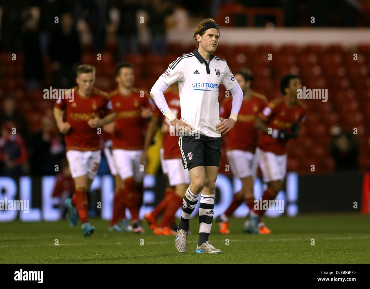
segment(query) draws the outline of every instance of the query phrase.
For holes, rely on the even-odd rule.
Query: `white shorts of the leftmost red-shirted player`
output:
[[[74,151],[71,149],[67,151],[67,159],[72,178],[87,174],[89,179],[94,179],[98,172],[101,151]]]

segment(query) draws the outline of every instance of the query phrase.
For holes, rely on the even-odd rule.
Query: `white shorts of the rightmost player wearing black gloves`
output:
[[[256,148],[256,159],[262,171],[263,181],[270,182],[284,179],[286,175],[287,155],[276,155],[273,152]]]

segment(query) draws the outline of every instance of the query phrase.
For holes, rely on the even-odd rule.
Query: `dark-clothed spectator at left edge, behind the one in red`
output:
[[[20,134],[23,137],[23,140],[28,147],[30,141],[28,124],[23,115],[17,110],[16,101],[11,95],[6,96],[3,101],[3,109],[0,112],[0,127],[7,121],[14,123],[16,134]]]

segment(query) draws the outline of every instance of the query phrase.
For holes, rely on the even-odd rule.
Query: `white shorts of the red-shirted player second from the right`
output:
[[[254,154],[249,151],[232,149],[226,151],[226,156],[228,157],[234,177],[241,179],[252,176],[253,180],[255,180],[257,175],[257,160]]]

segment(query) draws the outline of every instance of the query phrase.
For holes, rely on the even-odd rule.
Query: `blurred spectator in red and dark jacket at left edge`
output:
[[[26,147],[20,134],[14,133],[14,122],[1,125],[0,137],[0,175],[19,177],[24,173],[27,161]]]

